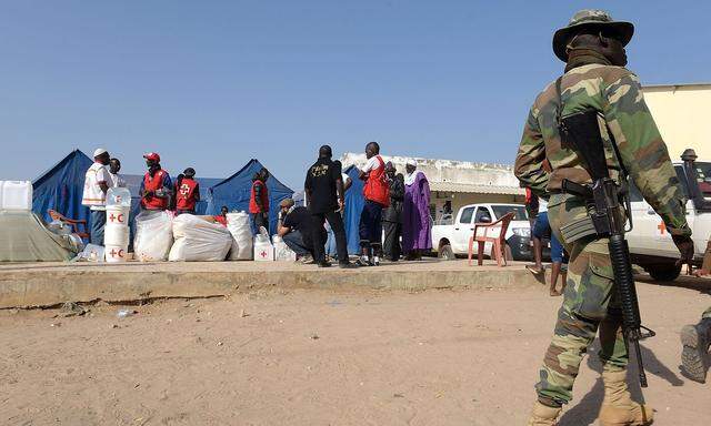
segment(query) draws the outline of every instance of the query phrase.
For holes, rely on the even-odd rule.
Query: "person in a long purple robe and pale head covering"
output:
[[[421,260],[432,248],[430,221],[430,183],[417,171],[417,162],[408,160],[402,204],[402,250],[408,260]]]

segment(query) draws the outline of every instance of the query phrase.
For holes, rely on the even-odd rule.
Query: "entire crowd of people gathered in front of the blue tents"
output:
[[[296,206],[293,200],[283,200],[279,205],[279,222],[276,233],[304,263],[320,267],[330,266],[326,253],[329,237],[336,242],[339,266],[377,266],[384,257],[391,262],[402,256],[420,260],[432,246],[429,182],[417,162],[408,161],[405,174],[397,173],[394,165],[385,163],[380,155],[380,145],[365,145],[368,162],[359,170],[363,181],[365,204],[359,219],[359,244],[361,253],[354,264],[349,260],[346,226],[343,224],[346,191],[351,178],[343,173],[342,164],[332,159],[332,149],[319,149],[317,161],[309,168],[304,181],[308,207]],[[201,200],[196,170],[187,168],[173,181],[161,166],[157,152],[143,155],[147,172],[140,187],[140,206],[146,211],[174,211],[176,215],[196,214]],[[104,149],[94,151],[94,162],[86,173],[82,204],[91,209],[90,242],[103,245],[106,225],[106,201],[110,187],[126,186],[120,176],[121,162],[112,159]],[[270,173],[261,169],[252,176],[249,213],[254,233],[269,226]],[[228,207],[222,206],[214,221],[227,225]],[[384,231],[384,232],[383,232]],[[384,236],[384,239],[383,239]]]

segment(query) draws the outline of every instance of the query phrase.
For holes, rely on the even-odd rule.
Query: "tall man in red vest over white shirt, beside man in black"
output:
[[[360,179],[365,181],[365,205],[358,226],[362,254],[357,263],[361,266],[378,266],[382,257],[382,210],[390,205],[390,186],[378,142],[365,145],[365,158],[368,162],[359,171]]]

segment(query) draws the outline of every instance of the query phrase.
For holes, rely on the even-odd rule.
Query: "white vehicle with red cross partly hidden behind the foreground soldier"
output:
[[[687,199],[687,221],[695,247],[694,263],[701,264],[711,235],[711,162],[697,161],[693,150],[685,150],[674,170]],[[673,281],[681,267],[675,265],[679,251],[662,219],[630,184],[632,231],[627,233],[632,263],[644,268],[654,280]]]

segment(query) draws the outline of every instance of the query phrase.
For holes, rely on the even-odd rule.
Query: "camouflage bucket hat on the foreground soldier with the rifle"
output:
[[[565,53],[565,45],[570,37],[575,34],[580,29],[590,27],[614,31],[617,34],[615,39],[620,40],[622,45],[627,45],[627,43],[632,40],[632,34],[634,34],[634,26],[631,22],[613,21],[610,13],[604,10],[583,9],[573,14],[568,27],[555,31],[553,36],[553,52],[555,52],[555,55],[561,61],[567,62],[568,53]]]

